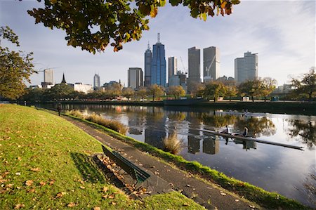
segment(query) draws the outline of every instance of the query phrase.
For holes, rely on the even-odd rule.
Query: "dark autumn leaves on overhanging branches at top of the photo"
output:
[[[215,14],[230,15],[232,6],[239,4],[239,0],[169,2],[172,6],[187,6],[193,18],[203,20]],[[35,18],[35,23],[65,30],[68,45],[96,53],[104,51],[108,44],[119,51],[122,44],[139,40],[142,32],[149,29],[148,17],[154,18],[158,8],[165,4],[166,0],[45,0],[44,8],[33,8],[28,13]]]

